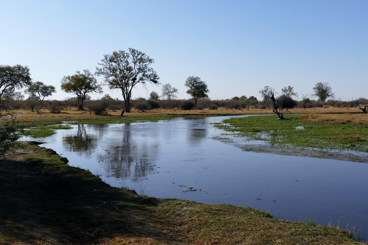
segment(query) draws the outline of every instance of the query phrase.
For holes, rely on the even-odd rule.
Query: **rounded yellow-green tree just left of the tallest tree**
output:
[[[102,93],[102,87],[89,70],[77,71],[74,75],[61,79],[61,90],[77,96],[78,109],[83,110],[83,102],[88,93]]]

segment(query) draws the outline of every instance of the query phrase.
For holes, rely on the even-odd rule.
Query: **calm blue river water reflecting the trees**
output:
[[[78,125],[35,140],[70,165],[138,194],[251,206],[291,221],[339,222],[357,226],[368,239],[367,163],[245,152],[213,139],[222,130],[209,123],[225,118]]]

